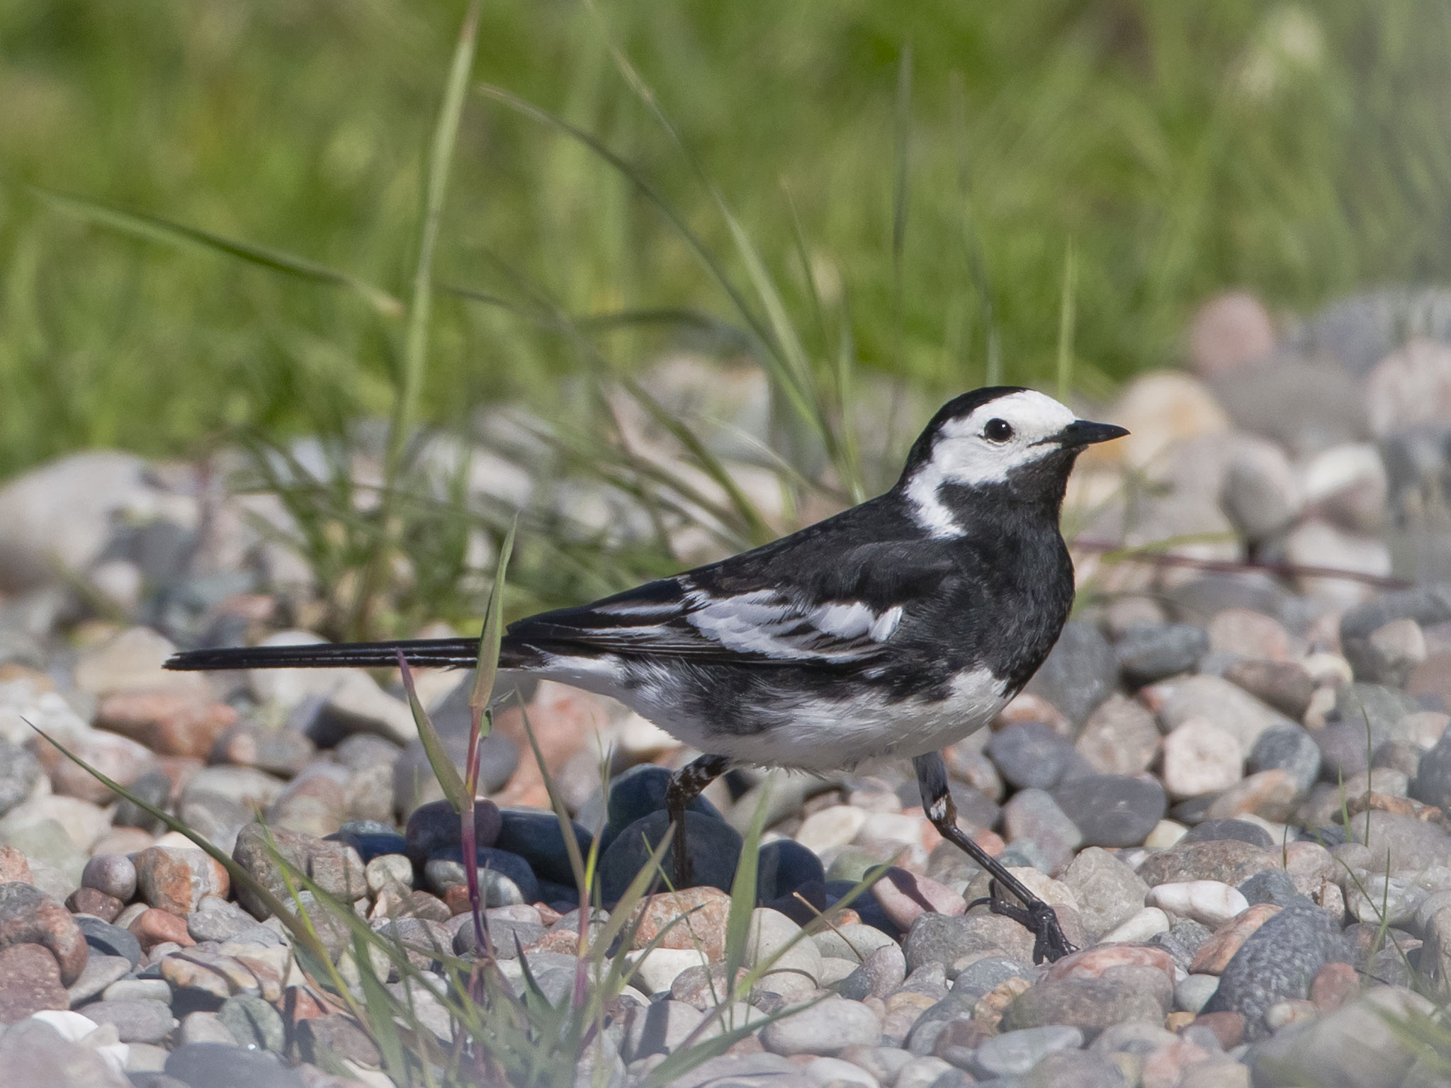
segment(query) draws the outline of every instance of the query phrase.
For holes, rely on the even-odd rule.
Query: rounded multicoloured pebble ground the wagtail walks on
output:
[[[1290,334],[1244,296],[1206,306],[1188,370],[1139,379],[1109,411],[1135,435],[1085,458],[1071,516],[1085,538],[1187,540],[1168,553],[1270,567],[1110,564],[1082,548],[1082,608],[1048,664],[991,730],[946,751],[963,827],[1058,907],[1082,950],[1035,966],[1027,930],[969,908],[987,882],[924,820],[907,767],[733,772],[688,818],[701,886],[647,904],[634,985],[607,1030],[611,1085],[637,1082],[712,1010],[721,889],[768,780],[747,966],[866,869],[894,867],[733,1015],[801,1011],[682,1085],[1445,1082],[1384,1014],[1431,1011],[1422,994],[1451,978],[1451,580],[1436,580],[1451,544],[1435,521],[1451,348],[1367,354],[1377,322],[1400,313],[1386,306],[1354,299]],[[312,637],[287,625],[306,615],[305,572],[242,516],[264,505],[193,479],[96,453],[0,490],[0,1069],[16,1084],[390,1084],[369,1039],[309,991],[264,904],[30,730],[261,883],[283,889],[258,812],[374,928],[473,955],[457,818],[396,686],[163,672],[174,641]],[[1413,585],[1387,588],[1393,569]],[[96,595],[129,619],[96,619]],[[461,760],[457,683],[421,677]],[[602,828],[608,905],[663,827],[667,769],[694,753],[608,701],[553,683],[527,696],[576,834]],[[506,711],[483,746],[490,801],[476,817],[488,927],[506,978],[522,979],[524,956],[563,995],[577,904],[521,747]],[[646,953],[688,910],[691,933]],[[341,927],[321,937],[344,956]],[[445,1017],[437,1031],[448,1037]],[[335,1060],[351,1075],[321,1071]]]

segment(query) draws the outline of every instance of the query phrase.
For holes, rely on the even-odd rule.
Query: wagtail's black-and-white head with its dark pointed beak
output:
[[[1126,434],[1113,424],[1078,419],[1032,389],[975,389],[932,418],[897,487],[911,502],[913,516],[936,537],[962,532],[950,493],[1001,489],[1017,500],[1049,502],[1056,514],[1078,454]]]

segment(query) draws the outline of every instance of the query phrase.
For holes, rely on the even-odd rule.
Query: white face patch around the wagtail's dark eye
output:
[[[1051,396],[1027,389],[949,421],[937,432],[932,456],[907,480],[917,524],[937,538],[961,537],[962,527],[939,495],[942,486],[1003,483],[1014,469],[1055,453],[1059,447],[1045,440],[1075,418]]]

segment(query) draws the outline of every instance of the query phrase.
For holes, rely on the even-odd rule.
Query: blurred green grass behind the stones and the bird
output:
[[[461,13],[451,0],[3,0],[0,473],[81,445],[192,453],[238,428],[385,415],[400,322],[345,292],[77,222],[26,186],[406,297]],[[611,41],[805,310],[798,216],[827,313],[818,332],[802,323],[808,351],[829,355],[849,329],[865,367],[933,393],[979,384],[992,354],[1007,379],[1052,387],[1069,244],[1074,380],[1088,393],[1175,361],[1187,312],[1217,287],[1303,310],[1451,270],[1441,0],[486,3],[474,78],[596,132],[726,254],[708,191],[625,87]],[[728,310],[627,181],[479,94],[435,271],[579,316]],[[631,326],[601,347],[630,366],[682,335]],[[447,424],[522,397],[548,413],[580,366],[570,338],[444,294],[422,412]]]

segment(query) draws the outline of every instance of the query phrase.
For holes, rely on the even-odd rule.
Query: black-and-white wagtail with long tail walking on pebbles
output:
[[[1126,435],[1020,386],[942,406],[882,495],[750,551],[592,603],[518,619],[499,667],[609,695],[702,754],[673,772],[685,811],[733,766],[840,772],[910,759],[923,811],[992,878],[988,907],[1074,952],[1052,907],[958,827],[940,750],[988,725],[1048,657],[1074,602],[1059,531],[1080,453]],[[199,648],[167,667],[470,667],[479,640]],[[1007,889],[1017,902],[1000,892]],[[1020,904],[1020,905],[1019,905]]]

